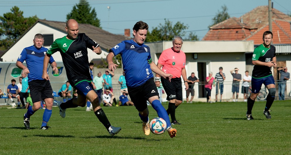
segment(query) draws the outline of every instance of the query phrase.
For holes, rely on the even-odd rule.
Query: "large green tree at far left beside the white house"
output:
[[[23,17],[23,11],[20,11],[17,6],[10,10],[11,12],[0,16],[0,50],[6,50],[38,20],[36,15]]]

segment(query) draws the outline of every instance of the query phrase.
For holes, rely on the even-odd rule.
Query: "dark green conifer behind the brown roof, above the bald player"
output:
[[[78,23],[91,24],[100,27],[100,20],[97,18],[95,8],[90,12],[91,7],[87,0],[80,0],[79,4],[73,6],[72,11],[67,14],[67,20],[75,19]]]

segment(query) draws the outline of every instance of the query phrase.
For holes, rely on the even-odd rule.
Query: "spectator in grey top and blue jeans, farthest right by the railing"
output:
[[[287,72],[287,67],[278,68],[278,71],[280,73],[280,80],[278,83],[279,100],[285,100],[286,83],[287,80],[290,79],[290,73]]]

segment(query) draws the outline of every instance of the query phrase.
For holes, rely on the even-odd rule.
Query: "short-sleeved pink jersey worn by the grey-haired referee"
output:
[[[185,68],[186,55],[182,50],[177,53],[173,48],[168,48],[162,52],[158,63],[163,65],[163,72],[172,74],[173,78],[180,78],[182,68]]]

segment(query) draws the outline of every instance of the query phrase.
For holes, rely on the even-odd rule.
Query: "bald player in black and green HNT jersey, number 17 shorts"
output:
[[[74,19],[67,21],[67,36],[58,38],[50,46],[43,59],[43,79],[50,80],[47,73],[48,60],[50,55],[60,51],[62,60],[66,68],[67,77],[70,84],[77,90],[78,97],[63,102],[60,108],[60,116],[65,118],[67,108],[85,107],[86,98],[92,103],[93,110],[99,121],[106,127],[111,136],[117,134],[121,127],[113,127],[109,123],[104,111],[99,105],[99,99],[92,86],[92,78],[89,69],[87,48],[97,54],[101,54],[99,44],[90,39],[85,33],[79,33],[79,25]]]

